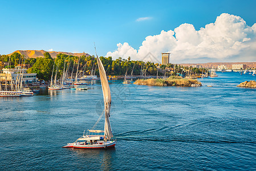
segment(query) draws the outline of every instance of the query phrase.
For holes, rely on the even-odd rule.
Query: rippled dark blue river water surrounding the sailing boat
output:
[[[203,87],[149,87],[112,81],[115,149],[61,148],[103,109],[100,82],[88,91],[42,91],[0,99],[4,170],[255,170],[256,76],[217,73]],[[206,87],[212,85],[213,87]],[[97,129],[104,129],[101,119]]]

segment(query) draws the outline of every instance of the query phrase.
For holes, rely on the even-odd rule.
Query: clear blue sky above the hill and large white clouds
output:
[[[42,49],[94,54],[94,42],[101,56],[115,51],[117,43],[128,42],[138,50],[149,35],[182,23],[199,30],[222,13],[253,26],[255,6],[256,1],[1,0],[0,54]]]

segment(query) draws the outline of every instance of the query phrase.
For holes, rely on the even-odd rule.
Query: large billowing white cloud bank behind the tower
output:
[[[106,56],[151,60],[145,58],[149,52],[156,57],[152,62],[161,61],[161,52],[170,52],[172,63],[252,62],[256,60],[256,23],[250,27],[241,17],[223,13],[200,30],[184,23],[147,36],[139,50],[127,42],[118,43]]]

